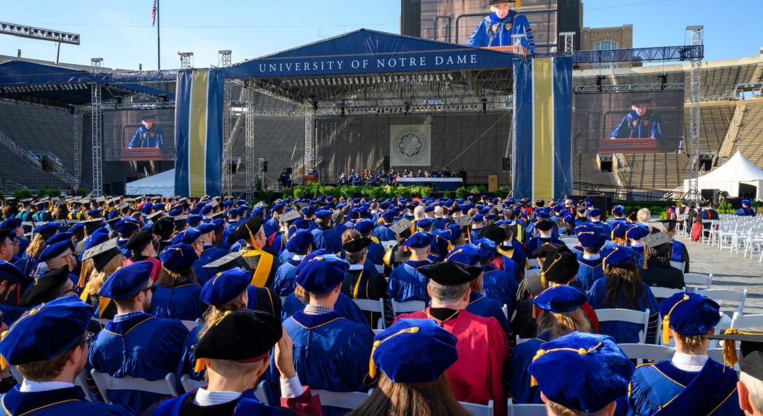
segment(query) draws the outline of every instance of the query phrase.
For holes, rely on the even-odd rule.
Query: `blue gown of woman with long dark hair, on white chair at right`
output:
[[[607,279],[607,277],[598,279],[594,282],[594,285],[591,286],[591,291],[588,292],[588,303],[594,310],[612,308],[609,305],[604,305],[604,297],[607,292]],[[636,311],[645,311],[646,308],[649,308],[649,325],[647,327],[647,333],[645,334],[646,343],[655,343],[655,338],[657,336],[657,321],[660,316],[659,305],[657,299],[655,299],[655,295],[652,295],[652,290],[649,289],[649,286],[643,283],[642,285],[645,292],[645,302],[639,302],[639,305],[636,305],[636,308],[633,309]],[[623,305],[623,299],[620,299],[616,308],[624,308]],[[638,343],[639,331],[643,331],[644,328],[642,325],[629,322],[608,321],[600,322],[599,329],[601,334],[613,337],[617,343]]]

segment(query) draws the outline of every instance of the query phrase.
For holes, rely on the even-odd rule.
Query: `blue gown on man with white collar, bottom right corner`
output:
[[[698,372],[678,369],[671,360],[645,364],[631,378],[628,414],[739,415],[736,381],[736,371],[713,360]]]

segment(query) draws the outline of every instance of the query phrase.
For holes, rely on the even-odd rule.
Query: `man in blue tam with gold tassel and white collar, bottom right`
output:
[[[707,356],[720,306],[699,293],[676,293],[660,303],[660,314],[662,341],[672,335],[675,353],[633,373],[630,414],[740,414],[736,372]]]

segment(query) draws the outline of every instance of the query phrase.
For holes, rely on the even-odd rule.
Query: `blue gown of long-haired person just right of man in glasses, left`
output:
[[[184,282],[172,289],[159,286],[151,299],[151,314],[156,318],[196,321],[207,310],[207,305],[199,298],[200,294],[198,283]]]

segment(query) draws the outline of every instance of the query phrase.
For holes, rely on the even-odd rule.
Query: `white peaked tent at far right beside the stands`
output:
[[[699,178],[700,192],[703,189],[717,189],[738,197],[740,184],[755,186],[755,199],[763,200],[763,169],[752,164],[739,151],[718,169]],[[689,192],[688,179],[684,180],[684,192]]]

